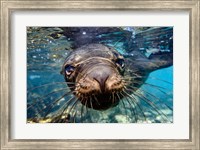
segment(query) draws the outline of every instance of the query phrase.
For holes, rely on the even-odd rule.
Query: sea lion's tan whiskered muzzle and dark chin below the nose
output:
[[[120,79],[110,78],[102,86],[97,80],[81,80],[76,88],[76,96],[80,102],[95,110],[105,110],[114,107],[122,98],[120,92],[124,89],[125,83]]]

